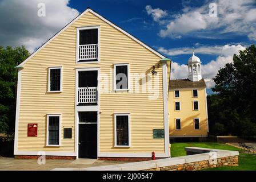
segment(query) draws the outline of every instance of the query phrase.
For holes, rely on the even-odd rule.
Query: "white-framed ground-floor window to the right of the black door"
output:
[[[130,146],[129,114],[115,114],[115,146]]]

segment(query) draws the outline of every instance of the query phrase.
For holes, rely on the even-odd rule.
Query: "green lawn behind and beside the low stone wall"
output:
[[[205,170],[221,170],[221,171],[256,171],[256,155],[244,154],[240,152],[237,147],[229,146],[218,142],[187,142],[187,143],[171,143],[171,156],[183,156],[186,155],[185,147],[204,147],[204,148],[216,148],[221,150],[234,150],[239,151],[239,166],[238,167],[218,167],[208,168]]]

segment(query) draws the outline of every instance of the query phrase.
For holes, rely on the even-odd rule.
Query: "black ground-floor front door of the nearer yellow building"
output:
[[[97,123],[79,124],[78,158],[97,159]]]

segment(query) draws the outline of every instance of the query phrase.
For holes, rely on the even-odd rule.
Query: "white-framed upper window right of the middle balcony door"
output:
[[[129,64],[114,65],[114,90],[129,90]]]

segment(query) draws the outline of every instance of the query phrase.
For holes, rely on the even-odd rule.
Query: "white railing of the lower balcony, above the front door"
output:
[[[97,87],[78,88],[78,104],[97,103]]]

